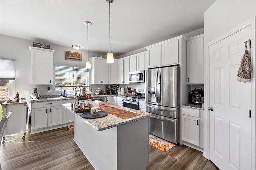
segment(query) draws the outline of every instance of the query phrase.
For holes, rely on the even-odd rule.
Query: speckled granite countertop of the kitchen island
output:
[[[112,127],[116,127],[116,126],[120,126],[120,125],[124,125],[126,123],[130,123],[132,121],[137,121],[146,117],[150,117],[151,113],[148,112],[144,112],[144,111],[139,111],[136,109],[130,109],[128,107],[123,107],[123,106],[117,106],[114,104],[110,104],[110,103],[105,103],[105,102],[101,102],[101,104],[105,104],[111,107],[116,107],[118,109],[123,109],[126,111],[132,111],[134,113],[139,113],[141,115],[136,116],[136,117],[132,117],[129,119],[122,119],[120,117],[117,117],[115,115],[112,114],[108,114],[105,117],[101,117],[101,118],[97,118],[97,119],[84,119],[82,118],[80,115],[82,115],[82,113],[76,113],[74,111],[71,110],[71,104],[62,104],[63,107],[65,107],[66,109],[68,109],[68,111],[70,111],[71,113],[73,113],[75,116],[80,117],[80,119],[82,119],[85,123],[88,123],[88,125],[90,125],[91,127],[93,127],[94,129],[96,129],[97,131],[103,131],[106,129],[110,129]]]

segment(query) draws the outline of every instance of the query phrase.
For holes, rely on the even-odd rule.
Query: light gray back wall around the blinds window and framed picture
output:
[[[44,42],[37,42],[44,43]],[[50,45],[50,49],[55,50],[53,53],[53,63],[56,64],[68,64],[72,66],[85,67],[85,63],[88,60],[87,51],[77,50],[72,47],[62,47],[58,45]],[[38,88],[40,95],[56,95],[60,94],[54,92],[53,85],[32,85],[31,84],[31,51],[28,46],[33,46],[33,41],[20,39],[16,37],[10,37],[6,35],[0,35],[0,58],[15,59],[16,60],[16,79],[15,79],[15,92],[14,95],[19,92],[20,97],[30,97],[30,94],[24,94],[24,90],[29,90],[30,93],[34,87]],[[65,60],[65,51],[75,51],[82,53],[82,61]],[[89,52],[89,58],[94,56],[94,52]],[[97,53],[98,54],[98,53]],[[106,54],[98,54],[106,58]],[[53,66],[54,67],[54,66]],[[54,69],[53,69],[54,70]],[[54,74],[54,73],[53,73]],[[50,86],[52,93],[48,93],[47,87]]]

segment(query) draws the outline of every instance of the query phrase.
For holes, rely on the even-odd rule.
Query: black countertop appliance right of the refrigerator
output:
[[[204,90],[200,87],[196,87],[189,93],[189,102],[191,104],[202,105],[204,103]]]

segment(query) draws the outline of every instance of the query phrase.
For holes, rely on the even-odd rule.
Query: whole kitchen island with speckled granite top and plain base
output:
[[[74,114],[74,141],[96,170],[146,170],[149,164],[149,117],[151,113],[101,102],[110,107],[138,113],[124,119],[108,114],[97,119],[84,119]]]

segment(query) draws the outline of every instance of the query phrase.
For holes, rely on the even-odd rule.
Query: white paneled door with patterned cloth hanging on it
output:
[[[251,38],[250,26],[209,47],[210,160],[222,170],[252,169],[252,84],[236,80]]]

